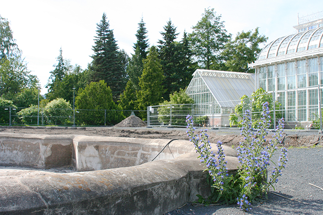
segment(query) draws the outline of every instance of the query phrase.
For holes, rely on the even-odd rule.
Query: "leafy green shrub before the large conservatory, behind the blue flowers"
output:
[[[242,113],[244,110],[251,110],[252,114],[252,126],[255,126],[260,119],[262,112],[262,104],[264,102],[269,103],[269,110],[273,110],[273,97],[271,93],[267,93],[264,89],[258,88],[255,92],[251,94],[250,97],[243,95],[241,97],[241,103],[235,107],[235,113],[230,114],[229,121],[230,126],[242,127]],[[280,103],[275,101],[275,109],[278,110]],[[270,113],[273,119],[273,112]],[[279,112],[276,112],[276,119],[281,118]]]

